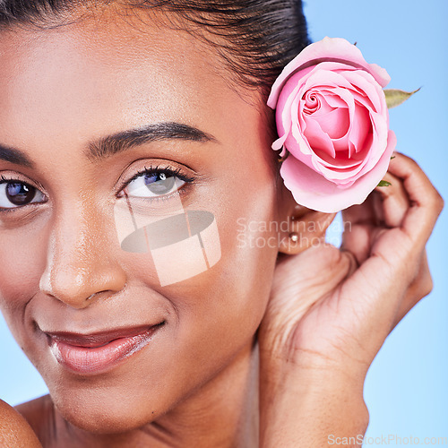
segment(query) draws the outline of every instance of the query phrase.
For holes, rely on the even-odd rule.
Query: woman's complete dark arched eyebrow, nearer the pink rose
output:
[[[90,142],[87,157],[90,160],[105,159],[144,143],[162,140],[218,142],[213,135],[204,133],[194,126],[175,122],[163,122],[108,135],[98,141]]]

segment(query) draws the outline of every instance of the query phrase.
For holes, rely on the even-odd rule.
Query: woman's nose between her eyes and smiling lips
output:
[[[114,256],[117,244],[115,228],[98,213],[72,209],[56,218],[40,290],[68,306],[85,308],[94,297],[124,289],[125,271]]]

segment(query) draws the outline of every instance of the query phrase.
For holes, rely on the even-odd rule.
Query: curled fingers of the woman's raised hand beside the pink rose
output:
[[[342,214],[344,222],[349,222],[342,248],[355,254],[358,263],[364,263],[373,254],[371,249],[375,241],[383,235],[384,229],[391,228],[401,232],[387,236],[387,244],[375,248],[380,248],[387,258],[396,258],[398,247],[401,252],[412,250],[419,256],[443,208],[444,201],[422,169],[400,153],[392,159],[384,180],[391,185],[377,187],[366,202]],[[392,249],[394,254],[391,254]]]

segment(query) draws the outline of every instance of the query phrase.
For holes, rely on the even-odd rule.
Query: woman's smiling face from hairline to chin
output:
[[[65,418],[100,432],[232,375],[278,252],[242,235],[277,218],[257,94],[187,33],[108,19],[0,39],[0,306]],[[211,213],[220,257],[161,286],[120,232],[179,204]],[[252,241],[273,231],[252,225]],[[170,253],[173,271],[188,250]]]

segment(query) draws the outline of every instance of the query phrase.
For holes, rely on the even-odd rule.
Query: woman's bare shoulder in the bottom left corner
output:
[[[0,446],[39,448],[39,440],[25,418],[0,400]]]

